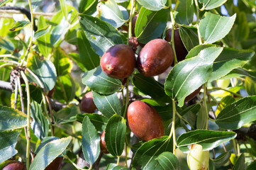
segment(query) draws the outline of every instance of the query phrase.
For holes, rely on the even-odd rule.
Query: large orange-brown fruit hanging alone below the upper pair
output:
[[[149,141],[165,135],[159,113],[144,101],[130,103],[127,116],[130,130],[141,140]]]

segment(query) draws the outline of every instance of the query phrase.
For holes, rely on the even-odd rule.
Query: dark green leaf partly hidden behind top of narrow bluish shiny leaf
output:
[[[103,132],[105,130],[106,124],[108,123],[108,118],[106,118],[104,115],[99,115],[97,113],[84,113],[82,115],[77,115],[76,118],[82,123],[84,116],[88,116],[97,131]]]

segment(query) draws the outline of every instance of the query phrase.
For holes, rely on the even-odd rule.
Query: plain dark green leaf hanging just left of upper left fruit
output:
[[[91,70],[99,66],[99,55],[94,52],[89,40],[87,40],[87,37],[84,35],[82,30],[77,31],[77,43],[80,61],[84,68]]]

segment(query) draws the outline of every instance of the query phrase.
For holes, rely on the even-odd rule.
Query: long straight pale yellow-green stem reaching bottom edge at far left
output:
[[[28,79],[23,71],[21,71],[21,76],[26,84],[26,91],[27,91],[27,100],[28,100],[28,106],[27,106],[27,147],[26,147],[26,169],[29,169],[29,154],[30,154],[30,89],[28,84]]]

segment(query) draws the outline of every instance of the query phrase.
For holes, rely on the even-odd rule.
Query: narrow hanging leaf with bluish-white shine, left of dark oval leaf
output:
[[[91,123],[88,116],[84,116],[82,123],[82,150],[84,153],[84,159],[90,164],[94,164],[99,157],[100,137],[96,128]]]

